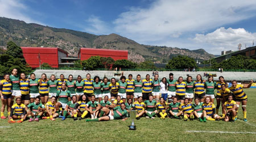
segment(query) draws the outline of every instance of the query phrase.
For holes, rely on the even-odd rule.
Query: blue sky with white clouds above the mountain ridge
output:
[[[256,45],[255,0],[0,0],[0,16],[215,55]]]

